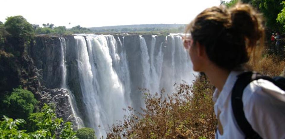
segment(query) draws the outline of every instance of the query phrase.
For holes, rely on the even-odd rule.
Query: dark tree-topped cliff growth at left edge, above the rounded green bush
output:
[[[27,88],[31,62],[27,49],[32,43],[34,31],[22,16],[7,18],[0,23],[0,98],[22,85]]]

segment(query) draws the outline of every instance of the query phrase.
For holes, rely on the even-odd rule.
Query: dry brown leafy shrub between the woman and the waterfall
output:
[[[164,90],[155,95],[146,93],[143,113],[129,108],[129,115],[110,127],[107,138],[214,138],[213,92],[214,86],[200,75],[191,86],[176,86],[176,93],[166,99],[162,97]]]

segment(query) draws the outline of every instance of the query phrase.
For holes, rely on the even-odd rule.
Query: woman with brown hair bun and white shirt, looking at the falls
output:
[[[263,45],[261,16],[248,4],[230,9],[211,7],[197,15],[186,31],[191,36],[184,38],[184,47],[193,69],[204,72],[216,87],[216,138],[245,138],[233,115],[231,93],[249,56],[256,55]],[[268,80],[252,81],[244,89],[244,115],[261,138],[285,138],[284,101],[285,92]]]

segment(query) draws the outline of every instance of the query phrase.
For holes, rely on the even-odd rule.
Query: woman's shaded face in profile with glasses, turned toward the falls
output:
[[[183,44],[185,49],[190,55],[192,64],[193,64],[193,70],[201,72],[201,62],[198,57],[198,51],[197,46],[194,46],[194,42],[191,37],[185,37],[183,38]]]

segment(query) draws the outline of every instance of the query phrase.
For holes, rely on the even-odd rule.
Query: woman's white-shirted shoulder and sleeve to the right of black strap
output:
[[[249,83],[243,92],[243,110],[262,138],[285,138],[285,92],[264,79]]]

